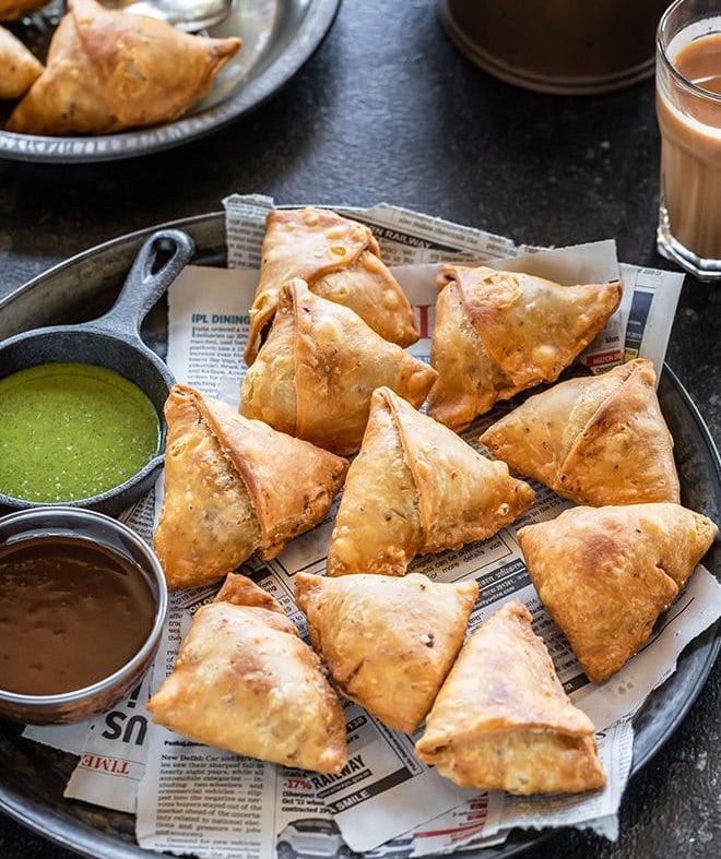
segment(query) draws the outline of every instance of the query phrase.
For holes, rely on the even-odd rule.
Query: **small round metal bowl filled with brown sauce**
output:
[[[147,671],[167,613],[150,547],[94,511],[0,518],[0,716],[34,725],[109,709]]]

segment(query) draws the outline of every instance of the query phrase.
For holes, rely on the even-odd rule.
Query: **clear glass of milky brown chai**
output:
[[[721,0],[676,0],[657,34],[659,252],[721,279]]]

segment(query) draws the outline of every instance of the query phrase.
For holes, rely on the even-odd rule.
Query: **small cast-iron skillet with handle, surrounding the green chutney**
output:
[[[90,508],[115,516],[153,485],[165,451],[167,428],[163,405],[175,380],[163,360],[142,342],[140,325],[193,251],[192,239],[181,230],[154,232],[140,249],[122,291],[105,315],[81,325],[35,329],[0,343],[0,378],[42,363],[92,363],[115,370],[134,382],[155,406],[161,422],[155,456],[120,486],[98,496],[64,502],[66,506]],[[0,513],[35,506],[42,505],[0,491]]]

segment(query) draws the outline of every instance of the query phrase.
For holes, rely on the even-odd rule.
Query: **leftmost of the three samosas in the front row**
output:
[[[158,725],[237,754],[319,773],[346,763],[343,711],[320,660],[241,575],[198,609],[147,708]]]

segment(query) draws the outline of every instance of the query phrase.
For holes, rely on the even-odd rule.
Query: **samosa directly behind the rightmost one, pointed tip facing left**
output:
[[[578,504],[678,503],[673,439],[643,358],[529,397],[481,437],[511,470]]]

